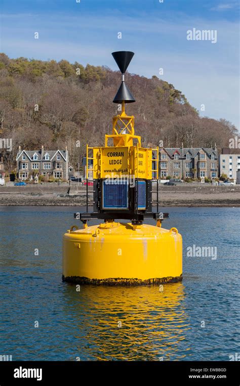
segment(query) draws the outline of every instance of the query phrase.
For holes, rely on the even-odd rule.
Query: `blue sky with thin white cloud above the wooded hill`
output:
[[[201,116],[239,128],[238,1],[76,1],[2,0],[1,51],[116,70],[111,52],[131,50],[131,73],[172,83],[195,108],[205,105]],[[193,28],[217,30],[217,42],[187,40]]]

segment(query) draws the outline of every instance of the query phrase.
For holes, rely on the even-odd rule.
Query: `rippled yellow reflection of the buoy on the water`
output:
[[[159,360],[176,356],[189,329],[184,309],[184,285],[94,287],[81,286],[81,293],[66,288],[65,296],[72,316],[79,356],[96,360]],[[84,331],[84,334],[83,334]],[[97,333],[96,333],[97,332]],[[185,348],[186,349],[186,348]],[[184,358],[179,353],[178,358]]]

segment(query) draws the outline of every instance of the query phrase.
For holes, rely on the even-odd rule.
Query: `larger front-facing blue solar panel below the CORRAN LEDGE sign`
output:
[[[103,181],[102,203],[103,209],[128,209],[128,184]]]

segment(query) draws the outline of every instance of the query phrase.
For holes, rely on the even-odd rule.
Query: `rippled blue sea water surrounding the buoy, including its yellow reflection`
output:
[[[165,284],[164,292],[90,285],[77,292],[62,282],[62,234],[73,212],[0,209],[0,355],[228,361],[240,352],[239,208],[169,210],[165,227],[183,236],[183,281]],[[217,259],[187,258],[193,244],[217,246]]]

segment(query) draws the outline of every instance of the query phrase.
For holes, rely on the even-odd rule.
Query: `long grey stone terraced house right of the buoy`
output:
[[[159,149],[160,177],[204,178],[218,177],[218,151],[212,148]]]

